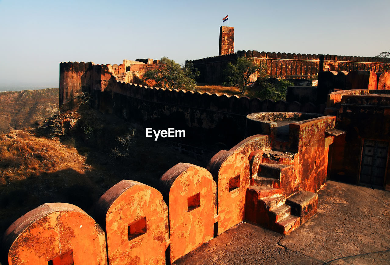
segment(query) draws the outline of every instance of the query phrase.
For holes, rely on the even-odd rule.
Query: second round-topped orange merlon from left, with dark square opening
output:
[[[168,242],[168,207],[156,189],[133,180],[122,180],[99,199],[107,234],[110,265],[165,264]]]

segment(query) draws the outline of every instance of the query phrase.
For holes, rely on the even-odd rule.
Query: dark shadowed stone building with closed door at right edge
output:
[[[330,150],[330,177],[390,190],[389,90],[344,90],[329,95],[341,130]]]

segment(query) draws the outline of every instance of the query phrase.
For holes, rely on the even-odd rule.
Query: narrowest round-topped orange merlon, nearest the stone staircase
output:
[[[249,162],[243,154],[221,150],[210,159],[207,169],[217,182],[219,235],[244,219]]]

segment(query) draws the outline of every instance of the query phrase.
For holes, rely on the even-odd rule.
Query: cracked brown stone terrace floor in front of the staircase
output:
[[[390,192],[328,181],[289,235],[240,223],[174,264],[390,264]]]

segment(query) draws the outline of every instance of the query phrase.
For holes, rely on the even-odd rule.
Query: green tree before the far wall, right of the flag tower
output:
[[[256,81],[256,78],[252,75],[256,74],[257,78],[264,79],[266,71],[267,67],[265,64],[257,65],[249,58],[239,57],[234,64],[231,62],[227,64],[224,70],[224,85],[236,86],[241,94],[244,94],[248,86]]]

